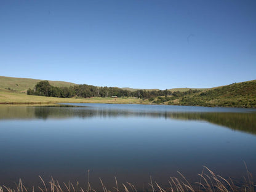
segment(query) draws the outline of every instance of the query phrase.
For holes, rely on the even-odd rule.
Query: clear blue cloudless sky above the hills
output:
[[[0,75],[142,89],[256,79],[256,1],[0,1]]]

